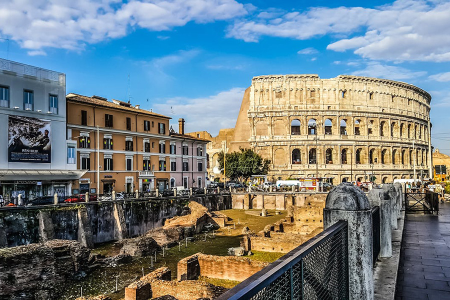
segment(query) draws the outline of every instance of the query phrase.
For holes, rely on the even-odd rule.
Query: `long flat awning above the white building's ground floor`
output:
[[[85,172],[87,170],[0,169],[0,180],[76,180]]]

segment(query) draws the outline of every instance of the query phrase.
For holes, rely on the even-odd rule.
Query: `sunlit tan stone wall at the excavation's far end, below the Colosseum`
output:
[[[265,193],[233,193],[231,195],[232,208],[234,209],[278,209],[285,210],[289,206],[303,205],[306,197],[314,196],[323,198],[325,201],[327,193],[282,193],[282,192],[265,192]]]

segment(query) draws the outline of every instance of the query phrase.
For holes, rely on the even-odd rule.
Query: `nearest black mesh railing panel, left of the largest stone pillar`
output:
[[[335,223],[216,299],[348,299],[347,230]]]

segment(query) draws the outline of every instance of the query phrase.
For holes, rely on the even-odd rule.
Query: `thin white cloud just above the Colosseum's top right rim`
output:
[[[388,78],[393,80],[416,79],[424,76],[425,71],[411,71],[407,68],[393,65],[384,65],[379,62],[369,62],[363,69],[353,71],[351,75]]]

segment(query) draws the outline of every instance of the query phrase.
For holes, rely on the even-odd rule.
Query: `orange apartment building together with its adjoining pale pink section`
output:
[[[200,172],[196,162],[205,160],[207,141],[174,132],[170,117],[100,96],[69,93],[66,100],[67,136],[77,141],[77,166],[87,170],[72,193],[204,186],[204,162]],[[202,151],[183,154],[183,144]]]

